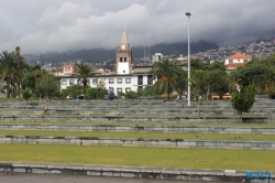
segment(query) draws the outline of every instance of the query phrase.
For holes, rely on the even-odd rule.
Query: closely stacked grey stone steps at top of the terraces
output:
[[[1,101],[0,116],[42,114],[43,101]],[[204,100],[200,104],[201,115],[238,115],[230,100]],[[53,100],[48,114],[53,115],[194,115],[198,112],[198,104],[191,101],[188,107],[185,100]],[[273,116],[273,100],[256,99],[250,112],[243,115]]]

